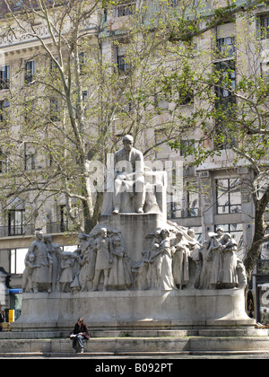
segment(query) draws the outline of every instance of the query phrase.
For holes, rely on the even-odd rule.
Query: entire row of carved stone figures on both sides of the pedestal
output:
[[[63,251],[50,235],[38,231],[25,257],[22,289],[75,294],[100,289],[244,287],[246,273],[236,255],[236,241],[221,228],[209,237],[202,246],[186,228],[158,228],[146,236],[149,247],[137,262],[126,252],[116,229],[99,226],[90,234],[80,233],[73,252]]]

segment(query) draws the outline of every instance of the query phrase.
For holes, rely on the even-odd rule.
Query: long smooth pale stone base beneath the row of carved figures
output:
[[[49,299],[48,299],[49,298]],[[244,290],[23,294],[13,331],[72,330],[83,317],[101,329],[247,329]]]

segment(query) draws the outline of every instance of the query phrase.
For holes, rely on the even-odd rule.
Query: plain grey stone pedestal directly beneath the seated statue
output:
[[[143,251],[149,249],[152,240],[146,239],[146,235],[164,226],[161,214],[100,215],[102,224],[121,232],[126,251],[134,262],[142,260]]]

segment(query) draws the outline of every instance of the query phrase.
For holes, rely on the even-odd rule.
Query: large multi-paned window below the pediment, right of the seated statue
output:
[[[241,192],[239,179],[216,180],[217,214],[239,214],[241,212]]]

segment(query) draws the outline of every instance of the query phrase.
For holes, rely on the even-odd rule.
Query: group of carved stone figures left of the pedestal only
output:
[[[97,235],[80,233],[79,246],[63,251],[50,235],[36,232],[25,257],[22,276],[24,292],[78,292],[126,288],[132,283],[129,259],[117,232],[108,237],[102,227]]]

